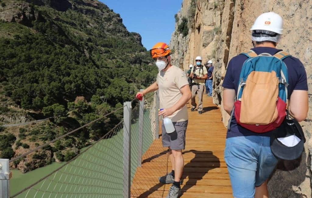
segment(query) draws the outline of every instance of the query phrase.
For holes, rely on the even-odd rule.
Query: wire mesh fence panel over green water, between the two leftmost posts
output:
[[[58,170],[12,197],[122,197],[122,143],[123,121]]]

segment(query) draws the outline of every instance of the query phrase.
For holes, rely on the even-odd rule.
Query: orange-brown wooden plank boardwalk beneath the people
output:
[[[186,147],[183,150],[184,171],[182,198],[232,197],[231,183],[224,161],[226,128],[212,98],[203,96],[204,112],[190,111]],[[161,137],[143,156],[131,186],[131,197],[166,197],[171,184],[160,184],[159,176],[171,172],[171,163]]]

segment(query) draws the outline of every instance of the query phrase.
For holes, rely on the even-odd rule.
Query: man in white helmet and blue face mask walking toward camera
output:
[[[204,93],[205,80],[207,79],[207,69],[202,66],[202,57],[197,56],[195,58],[196,65],[191,70],[190,77],[193,79],[192,81],[192,109],[191,111],[195,111],[196,102],[195,96],[196,93],[198,95],[198,107],[197,111],[199,114],[202,114],[202,95]]]

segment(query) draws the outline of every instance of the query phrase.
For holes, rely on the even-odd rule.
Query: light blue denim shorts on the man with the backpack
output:
[[[224,158],[236,198],[253,198],[255,187],[269,178],[278,162],[270,137],[264,136],[227,138]]]

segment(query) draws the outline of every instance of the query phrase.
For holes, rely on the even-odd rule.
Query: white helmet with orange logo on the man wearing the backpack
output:
[[[266,12],[256,19],[250,30],[267,30],[283,34],[283,19],[274,12]]]

